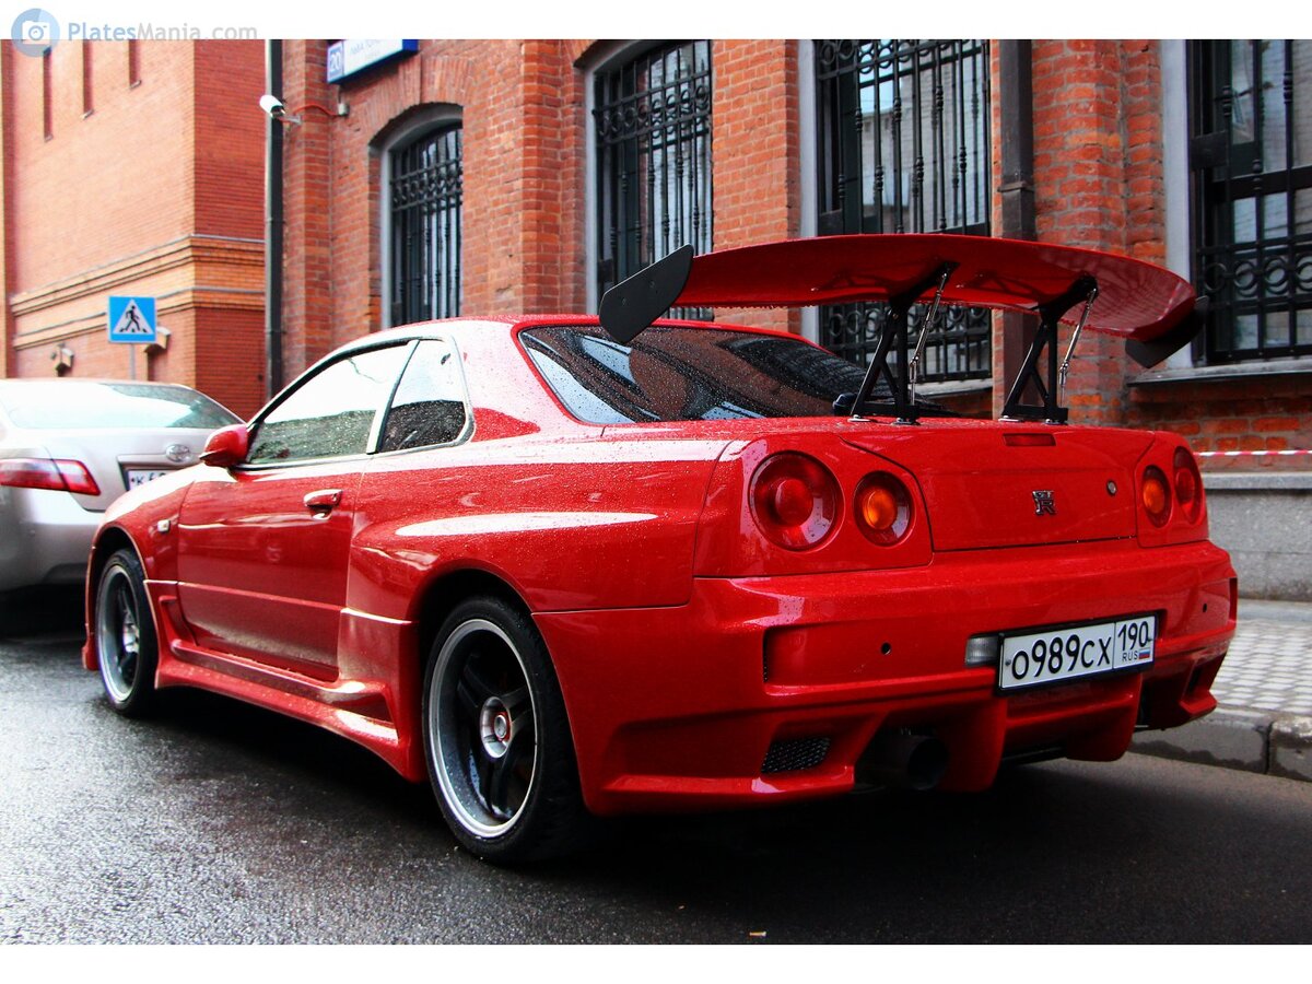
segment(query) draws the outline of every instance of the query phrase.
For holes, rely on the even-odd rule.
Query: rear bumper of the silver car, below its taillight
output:
[[[81,584],[101,518],[68,492],[0,488],[0,590]]]

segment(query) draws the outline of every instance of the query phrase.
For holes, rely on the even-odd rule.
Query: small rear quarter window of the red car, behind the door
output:
[[[445,341],[421,341],[396,387],[380,451],[451,443],[464,432],[459,356]]]

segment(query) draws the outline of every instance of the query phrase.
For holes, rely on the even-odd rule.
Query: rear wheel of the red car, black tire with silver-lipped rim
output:
[[[526,614],[492,597],[455,607],[429,653],[422,722],[433,792],[467,850],[514,863],[585,840],[560,685]]]

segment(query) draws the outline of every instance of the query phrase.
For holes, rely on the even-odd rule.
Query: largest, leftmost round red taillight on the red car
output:
[[[819,546],[838,523],[838,483],[815,458],[775,454],[752,476],[752,518],[789,550]]]

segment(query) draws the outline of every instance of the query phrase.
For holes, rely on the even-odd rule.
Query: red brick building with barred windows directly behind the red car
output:
[[[1169,366],[1081,341],[1073,419],[1198,450],[1312,446],[1312,127],[1288,125],[1312,45],[429,41],[337,84],[328,49],[283,50],[287,105],[331,110],[286,131],[289,370],[417,316],[594,310],[670,236],[968,231],[1215,274],[1208,337]],[[1004,114],[1010,93],[1033,109]],[[1033,151],[1004,161],[1026,127]],[[1281,222],[1254,226],[1258,202]],[[749,316],[854,356],[878,332],[870,311]],[[937,341],[939,396],[996,412],[1001,325]]]

